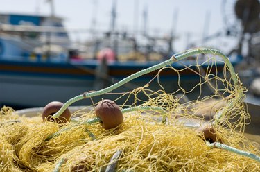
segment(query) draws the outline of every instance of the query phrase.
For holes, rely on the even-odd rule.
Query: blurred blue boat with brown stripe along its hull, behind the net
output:
[[[50,101],[65,102],[69,98],[102,89],[134,74],[141,69],[156,65],[162,60],[116,60],[113,54],[107,58],[82,59],[74,49],[62,18],[55,16],[1,14],[0,15],[0,105],[13,107],[41,107]],[[103,60],[102,60],[103,59]],[[106,61],[107,60],[107,61]],[[234,58],[232,64],[240,62]],[[198,61],[197,61],[198,62]],[[196,60],[174,63],[175,69],[184,69],[196,64]],[[202,67],[208,67],[205,63]],[[218,71],[223,69],[219,62]],[[196,70],[196,67],[194,68]],[[214,72],[214,69],[212,69]],[[157,71],[141,76],[123,85],[114,92],[128,92],[146,85]],[[185,69],[181,75],[191,87],[196,74]],[[177,85],[177,73],[165,69],[160,73],[160,82],[166,90]],[[150,85],[157,90],[159,85]],[[100,98],[111,97],[105,95]],[[98,99],[99,98],[99,99]],[[87,105],[89,99],[76,105]]]

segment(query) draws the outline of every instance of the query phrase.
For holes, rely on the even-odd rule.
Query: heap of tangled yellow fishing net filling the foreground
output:
[[[197,55],[190,53],[194,51]],[[195,64],[183,67],[180,55],[185,53]],[[260,171],[257,160],[243,155],[260,155],[259,145],[243,135],[250,123],[243,104],[246,89],[228,59],[220,56],[209,49],[173,55],[171,60],[180,60],[182,68],[161,65],[150,83],[114,99],[134,96],[132,104],[119,105],[123,123],[110,130],[95,122],[98,102],[74,112],[64,125],[43,122],[40,113],[19,116],[3,107],[0,171]],[[161,80],[164,70],[177,76],[171,89]],[[187,71],[193,73],[192,83],[182,77]],[[153,84],[159,89],[151,89]],[[205,126],[214,128],[216,142],[202,135],[199,128]]]

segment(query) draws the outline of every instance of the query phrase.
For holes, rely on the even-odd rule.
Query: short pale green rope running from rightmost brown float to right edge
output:
[[[260,157],[253,154],[253,153],[248,153],[248,152],[245,152],[243,150],[239,150],[239,149],[236,149],[236,148],[233,148],[231,146],[227,146],[225,144],[220,144],[218,142],[215,142],[215,143],[212,143],[212,144],[209,144],[209,142],[207,142],[207,146],[211,147],[211,148],[221,148],[221,149],[224,149],[224,150],[227,150],[229,152],[232,152],[232,153],[236,153],[238,155],[243,155],[245,157],[250,157],[252,158],[253,160],[257,160],[257,162],[260,162]]]

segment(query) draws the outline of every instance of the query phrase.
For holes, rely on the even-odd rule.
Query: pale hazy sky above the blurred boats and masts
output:
[[[53,0],[54,13],[64,17],[64,25],[72,40],[84,41],[86,33],[80,29],[96,28],[108,31],[112,4],[114,0]],[[124,31],[144,30],[144,9],[147,9],[146,33],[167,35],[174,31],[177,39],[173,44],[175,51],[184,51],[187,44],[199,42],[202,37],[224,31],[225,12],[232,12],[234,0],[223,8],[224,0],[117,0],[116,29]],[[28,14],[51,14],[48,0],[0,0],[0,12],[19,12]],[[231,17],[232,18],[232,17]],[[93,24],[96,21],[96,24]],[[225,49],[227,40],[215,40],[211,46]]]

